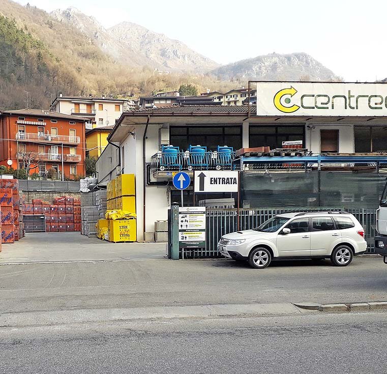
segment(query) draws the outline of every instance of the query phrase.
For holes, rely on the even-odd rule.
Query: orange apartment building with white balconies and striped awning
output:
[[[85,122],[87,118],[41,109],[0,112],[0,165],[33,169],[45,177],[48,169],[67,178],[85,175]],[[62,152],[63,149],[63,152]],[[63,165],[63,166],[62,166]]]

